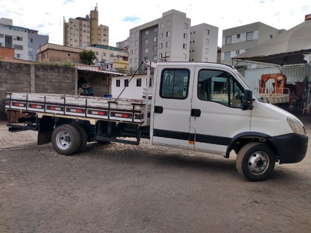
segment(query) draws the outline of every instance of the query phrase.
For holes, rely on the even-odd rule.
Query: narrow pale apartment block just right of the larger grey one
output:
[[[202,23],[190,30],[189,61],[216,63],[218,27]]]

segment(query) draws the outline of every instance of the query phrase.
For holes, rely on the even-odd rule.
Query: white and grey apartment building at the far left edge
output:
[[[0,46],[14,49],[15,58],[35,62],[37,48],[48,42],[48,34],[13,26],[13,19],[0,18]]]

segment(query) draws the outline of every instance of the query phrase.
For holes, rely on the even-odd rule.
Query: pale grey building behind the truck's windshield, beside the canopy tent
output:
[[[254,48],[283,31],[261,22],[223,30],[221,63],[231,64],[230,58]]]

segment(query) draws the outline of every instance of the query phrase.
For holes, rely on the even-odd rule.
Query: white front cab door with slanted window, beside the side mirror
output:
[[[194,150],[223,154],[235,135],[250,131],[251,110],[242,110],[241,83],[229,69],[196,67],[190,116]]]

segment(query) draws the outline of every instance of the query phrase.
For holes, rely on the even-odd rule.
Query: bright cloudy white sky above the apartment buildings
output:
[[[254,22],[289,30],[311,14],[311,0],[0,0],[0,17],[14,26],[48,33],[49,42],[63,45],[63,21],[85,17],[98,6],[99,24],[109,27],[109,45],[125,40],[129,30],[175,9],[187,14],[191,26],[207,23],[222,32]]]

